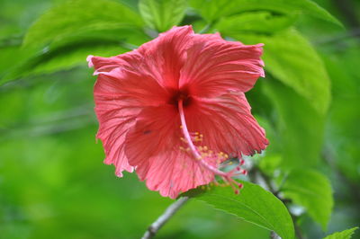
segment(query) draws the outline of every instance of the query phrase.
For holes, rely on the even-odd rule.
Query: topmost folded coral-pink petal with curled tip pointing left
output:
[[[163,88],[177,88],[180,69],[184,66],[185,49],[189,47],[192,36],[191,26],[174,27],[139,49],[112,58],[89,56],[87,61],[89,66],[94,66],[94,75],[109,75],[114,69],[120,68],[151,77]]]

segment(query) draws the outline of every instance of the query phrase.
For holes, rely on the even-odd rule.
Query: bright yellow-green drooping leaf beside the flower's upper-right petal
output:
[[[265,43],[267,72],[305,97],[320,113],[330,102],[330,80],[327,70],[311,43],[293,29],[272,36],[230,35],[246,43]]]

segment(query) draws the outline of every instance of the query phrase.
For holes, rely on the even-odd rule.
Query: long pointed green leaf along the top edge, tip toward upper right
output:
[[[310,0],[192,0],[190,4],[208,22],[237,13],[266,10],[289,15],[293,13],[309,14],[342,26],[335,17]]]

